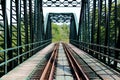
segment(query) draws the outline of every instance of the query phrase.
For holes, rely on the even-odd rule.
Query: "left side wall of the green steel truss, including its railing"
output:
[[[0,0],[0,76],[50,43],[44,39],[42,0],[10,0],[9,8],[7,1]]]

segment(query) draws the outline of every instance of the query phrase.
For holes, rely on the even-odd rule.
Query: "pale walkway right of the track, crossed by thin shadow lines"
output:
[[[69,44],[69,46],[100,76],[103,80],[120,80],[120,73],[114,71],[99,60],[84,51]]]

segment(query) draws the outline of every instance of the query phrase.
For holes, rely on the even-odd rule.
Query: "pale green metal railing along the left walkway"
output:
[[[19,52],[18,50],[20,49],[20,48],[23,48],[23,47],[27,47],[27,46],[29,46],[29,49],[28,49],[28,51],[25,51],[25,52],[23,52],[23,53],[18,53],[19,55],[17,55],[17,56],[13,56],[11,59],[8,59],[8,58],[6,58],[3,62],[1,62],[0,63],[0,68],[2,67],[2,68],[4,68],[4,69],[2,69],[2,70],[4,70],[4,71],[1,71],[1,74],[2,74],[2,72],[3,72],[3,74],[5,73],[7,73],[8,72],[8,64],[10,63],[10,62],[12,62],[12,61],[15,61],[16,59],[17,59],[17,65],[19,65],[20,64],[20,57],[24,57],[25,55],[27,55],[27,54],[30,54],[29,55],[29,57],[31,57],[32,55],[34,55],[36,52],[38,52],[39,50],[41,50],[41,49],[43,49],[44,47],[46,47],[47,45],[49,45],[51,43],[51,39],[49,39],[49,40],[44,40],[44,41],[38,41],[38,42],[34,42],[34,43],[29,43],[29,44],[24,44],[24,45],[21,45],[21,46],[16,46],[16,47],[13,47],[13,48],[7,48],[7,49],[4,49],[4,50],[0,50],[0,53],[4,53],[4,54],[6,54],[6,56],[5,57],[8,57],[7,55],[9,54],[9,52],[8,51],[14,51],[14,50],[17,50],[17,52]],[[39,45],[38,45],[39,44]],[[33,46],[33,47],[32,47]],[[32,48],[31,48],[32,47]],[[27,57],[26,59],[28,59],[29,57]],[[24,62],[24,61],[22,61],[22,62]],[[15,64],[15,65],[16,65]],[[12,66],[12,65],[9,65],[9,66]]]

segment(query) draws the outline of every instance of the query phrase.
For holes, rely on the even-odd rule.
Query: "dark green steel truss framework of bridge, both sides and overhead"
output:
[[[120,72],[118,3],[119,0],[0,0],[0,76],[52,42],[52,22],[69,22],[71,44]],[[43,7],[80,8],[79,21],[74,13],[43,16]]]

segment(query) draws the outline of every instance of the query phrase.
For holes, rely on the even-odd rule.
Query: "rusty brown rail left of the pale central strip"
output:
[[[57,55],[58,55],[58,48],[59,48],[59,43],[55,44],[54,50],[51,54],[49,61],[47,62],[47,65],[45,66],[43,70],[40,80],[52,80],[53,79],[54,71],[55,71],[55,62],[57,60]]]

